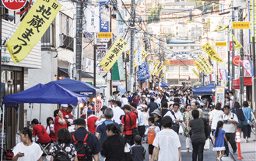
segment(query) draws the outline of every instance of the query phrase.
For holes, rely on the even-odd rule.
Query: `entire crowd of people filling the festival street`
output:
[[[251,135],[248,123],[254,118],[247,101],[240,108],[233,92],[226,94],[225,100],[225,104],[214,104],[213,94],[195,97],[191,88],[184,87],[136,91],[132,95],[129,91],[127,95],[114,92],[108,107],[100,109],[102,115],[96,117],[93,104],[88,103],[81,118],[75,120],[72,106],[61,104],[61,109],[54,111],[54,118],[47,118],[45,128],[33,119],[33,132],[30,128],[19,132],[22,142],[13,149],[13,160],[42,160],[40,146],[32,141],[32,136],[37,136],[40,145],[51,143],[47,147],[51,160],[66,157],[75,161],[141,161],[146,157],[142,144],[148,144],[149,160],[178,161],[181,134],[186,140],[186,152],[193,148],[192,160],[202,161],[205,142],[209,139],[205,128],[208,126],[212,150],[217,152],[216,160],[221,160],[229,155],[228,143],[237,152],[237,130],[243,132],[248,142]],[[204,114],[205,109],[209,110],[208,114]],[[75,132],[68,132],[70,125],[75,125]]]

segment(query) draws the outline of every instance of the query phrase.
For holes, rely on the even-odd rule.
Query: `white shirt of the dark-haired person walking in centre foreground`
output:
[[[181,147],[179,135],[172,129],[163,129],[157,132],[153,146],[160,148],[158,160],[177,161],[179,160],[178,148]]]

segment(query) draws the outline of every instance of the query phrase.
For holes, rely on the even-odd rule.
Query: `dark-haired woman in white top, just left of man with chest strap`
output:
[[[212,135],[213,135],[214,130],[216,130],[216,128],[217,128],[217,123],[220,120],[222,120],[223,114],[224,114],[224,112],[221,109],[221,104],[217,103],[216,106],[215,106],[215,109],[212,110],[212,113],[210,115],[210,125],[211,125],[211,128],[212,128]]]

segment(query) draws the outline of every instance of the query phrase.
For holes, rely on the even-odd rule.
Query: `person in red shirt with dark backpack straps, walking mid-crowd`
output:
[[[138,112],[136,108],[131,105],[125,104],[124,107],[124,117],[121,118],[121,131],[124,134],[124,139],[131,146],[134,144],[132,136],[132,128],[138,127],[137,117]],[[133,111],[133,112],[132,112]]]

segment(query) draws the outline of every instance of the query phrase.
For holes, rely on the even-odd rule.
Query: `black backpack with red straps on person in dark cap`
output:
[[[86,139],[90,135],[90,132],[86,133],[85,138],[79,141],[76,141],[75,135],[72,135],[72,139],[74,140],[74,146],[77,151],[77,158],[79,161],[92,161],[93,160],[93,152],[87,145]]]

